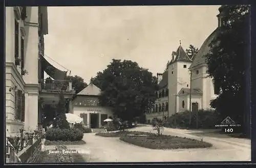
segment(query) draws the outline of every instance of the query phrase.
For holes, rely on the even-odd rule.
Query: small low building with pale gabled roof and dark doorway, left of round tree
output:
[[[113,112],[110,107],[102,107],[99,105],[98,96],[101,90],[94,84],[89,84],[86,88],[76,94],[72,101],[71,113],[83,118],[83,124],[90,128],[100,128],[103,121]]]

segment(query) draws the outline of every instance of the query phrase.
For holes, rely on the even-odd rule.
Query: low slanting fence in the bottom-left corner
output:
[[[6,160],[7,163],[37,163],[41,153],[41,139],[35,140],[33,145],[29,145],[22,151],[18,152],[17,156],[14,150],[10,150],[10,158]],[[20,159],[18,159],[18,158]]]

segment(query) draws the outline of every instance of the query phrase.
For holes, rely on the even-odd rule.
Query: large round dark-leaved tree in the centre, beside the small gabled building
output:
[[[156,77],[130,60],[113,59],[91,82],[102,90],[100,104],[112,107],[123,120],[141,116],[155,102]]]

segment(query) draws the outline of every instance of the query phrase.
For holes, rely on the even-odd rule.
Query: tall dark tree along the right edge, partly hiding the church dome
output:
[[[215,88],[221,90],[217,99],[211,101],[223,117],[230,116],[244,126],[249,136],[245,72],[249,70],[246,57],[250,45],[250,7],[248,5],[225,5],[221,7],[224,25],[210,43],[206,54],[208,74],[214,79]],[[245,67],[248,67],[247,69]]]

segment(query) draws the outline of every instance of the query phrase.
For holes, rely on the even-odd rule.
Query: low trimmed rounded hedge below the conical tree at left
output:
[[[81,140],[83,133],[79,129],[50,128],[46,131],[46,140],[51,141],[77,141]]]

